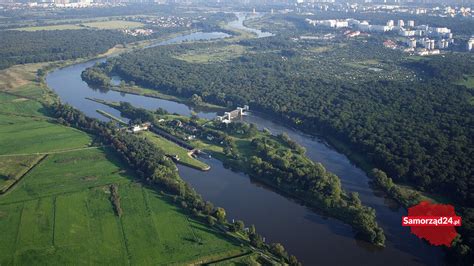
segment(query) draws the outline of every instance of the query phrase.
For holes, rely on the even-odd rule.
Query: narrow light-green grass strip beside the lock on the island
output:
[[[162,138],[152,132],[143,132],[148,140],[156,144],[156,146],[162,148],[168,155],[178,155],[180,158],[180,163],[200,169],[206,170],[209,168],[209,165],[191,157],[188,155],[188,150],[178,146],[174,142],[171,142],[165,138]]]

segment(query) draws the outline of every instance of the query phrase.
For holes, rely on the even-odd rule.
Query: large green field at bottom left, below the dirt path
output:
[[[50,155],[0,197],[0,264],[184,264],[245,251],[131,179],[107,149]]]

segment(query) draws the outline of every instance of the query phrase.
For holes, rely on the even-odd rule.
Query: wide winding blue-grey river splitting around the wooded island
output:
[[[243,25],[245,15],[238,14],[239,20],[229,25],[249,30]],[[269,36],[249,30],[258,37]],[[156,45],[172,45],[183,41],[211,40],[228,37],[222,32],[196,32],[176,37]],[[86,100],[99,98],[107,101],[126,101],[134,106],[154,110],[164,108],[172,113],[190,115],[192,109],[184,104],[144,96],[101,91],[90,88],[81,80],[81,72],[104,59],[79,63],[51,72],[47,78],[64,103],[81,110],[90,117],[106,121],[96,110],[101,109],[120,117],[120,113],[110,107]],[[198,112],[201,117],[212,118],[212,112]],[[190,183],[206,200],[224,207],[229,219],[244,220],[254,224],[267,242],[280,242],[305,265],[442,265],[443,253],[440,248],[429,246],[410,234],[401,226],[401,217],[406,210],[383,193],[374,190],[366,173],[352,164],[345,155],[337,152],[316,137],[293,130],[284,124],[262,116],[251,114],[246,121],[267,128],[272,133],[286,132],[292,139],[306,147],[308,156],[321,162],[329,171],[337,174],[346,191],[359,193],[362,203],[374,208],[377,222],[387,237],[386,247],[376,248],[356,240],[350,226],[325,217],[299,202],[275,192],[247,175],[230,171],[222,163],[210,159],[208,172],[201,172],[179,166],[181,177]]]

